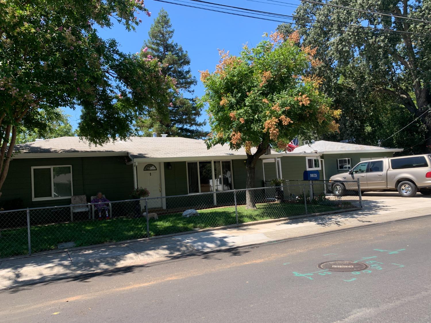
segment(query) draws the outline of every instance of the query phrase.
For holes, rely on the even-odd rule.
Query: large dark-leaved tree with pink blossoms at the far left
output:
[[[150,16],[143,3],[0,0],[0,192],[19,127],[34,130],[43,113],[81,106],[80,135],[103,144],[169,102],[172,82],[155,59],[122,53],[97,32],[115,22],[134,30],[138,13]]]

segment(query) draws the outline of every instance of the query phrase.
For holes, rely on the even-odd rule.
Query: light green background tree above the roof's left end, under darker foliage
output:
[[[46,115],[41,120],[41,126],[32,130],[19,127],[16,135],[16,144],[29,143],[36,139],[52,139],[58,137],[75,136],[72,124],[69,122],[70,115],[66,115],[61,109],[56,109],[53,115]]]

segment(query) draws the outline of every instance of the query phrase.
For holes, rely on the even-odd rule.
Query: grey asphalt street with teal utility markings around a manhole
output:
[[[3,290],[0,322],[431,322],[430,228],[422,217]],[[317,267],[332,260],[369,268]]]

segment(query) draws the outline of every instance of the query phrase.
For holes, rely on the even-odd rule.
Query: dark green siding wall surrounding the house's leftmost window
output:
[[[18,158],[10,163],[0,204],[13,199],[22,199],[26,208],[70,204],[70,199],[31,201],[31,167],[55,165],[72,165],[73,195],[85,194],[88,202],[98,191],[111,201],[128,199],[133,189],[133,168],[124,157]]]

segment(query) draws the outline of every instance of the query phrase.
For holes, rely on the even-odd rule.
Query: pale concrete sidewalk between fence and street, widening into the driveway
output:
[[[288,221],[267,222],[159,239],[141,239],[88,248],[48,252],[0,261],[0,289],[44,283],[86,274],[133,270],[157,261],[262,242],[345,230],[364,225],[431,215],[431,198],[393,193],[364,196],[364,208]]]

